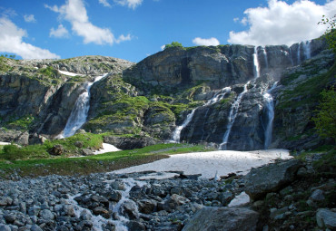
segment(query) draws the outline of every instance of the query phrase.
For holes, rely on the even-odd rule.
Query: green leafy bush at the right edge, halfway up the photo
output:
[[[312,120],[321,137],[336,140],[336,91],[335,86],[321,92],[321,104]]]

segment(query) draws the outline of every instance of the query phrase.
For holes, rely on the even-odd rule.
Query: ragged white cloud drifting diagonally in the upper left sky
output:
[[[83,0],[66,0],[65,5],[45,5],[45,7],[59,13],[61,18],[70,22],[74,34],[82,36],[84,43],[113,44],[123,40],[123,38],[115,39],[114,34],[108,28],[100,28],[90,23]]]

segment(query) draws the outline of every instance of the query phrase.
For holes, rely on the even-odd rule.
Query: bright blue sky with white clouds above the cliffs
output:
[[[0,0],[0,53],[139,62],[183,46],[292,44],[320,36],[336,0]]]

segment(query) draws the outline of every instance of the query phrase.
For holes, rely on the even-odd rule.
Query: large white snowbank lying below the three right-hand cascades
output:
[[[160,159],[149,164],[133,166],[114,171],[114,173],[132,173],[142,171],[183,171],[186,175],[202,174],[202,178],[213,178],[229,173],[247,174],[251,168],[271,163],[275,159],[291,159],[286,149],[256,151],[218,150],[171,155],[169,159]]]

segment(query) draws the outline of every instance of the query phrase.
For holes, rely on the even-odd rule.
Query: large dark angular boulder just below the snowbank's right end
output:
[[[267,193],[276,192],[294,180],[301,166],[300,160],[290,159],[261,168],[252,168],[244,177],[245,192],[252,200],[262,198]]]

